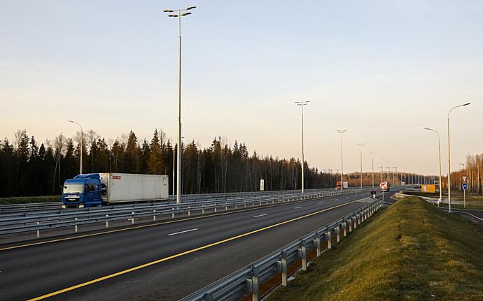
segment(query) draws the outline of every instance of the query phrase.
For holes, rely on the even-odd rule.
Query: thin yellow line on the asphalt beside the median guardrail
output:
[[[58,240],[48,240],[48,241],[45,241],[45,242],[33,242],[31,244],[22,244],[20,246],[13,246],[13,247],[3,248],[3,249],[0,249],[0,251],[9,250],[9,249],[18,249],[18,248],[22,248],[22,247],[30,247],[30,246],[35,246],[37,244],[48,244],[50,242],[62,242],[63,240],[75,240],[77,238],[90,237],[90,236],[102,235],[102,234],[108,234],[108,233],[116,233],[116,232],[125,231],[125,230],[132,230],[132,229],[139,229],[139,228],[146,228],[146,227],[152,227],[152,226],[165,225],[167,223],[176,223],[176,222],[179,222],[179,221],[193,221],[194,219],[204,219],[204,218],[211,217],[211,216],[220,216],[220,215],[225,215],[225,214],[232,214],[232,213],[238,213],[238,212],[246,212],[246,211],[251,211],[251,210],[258,210],[258,209],[261,209],[261,208],[276,207],[276,206],[282,206],[282,205],[290,205],[290,204],[294,204],[294,203],[302,203],[302,202],[309,202],[309,201],[311,201],[311,200],[299,200],[299,201],[289,202],[289,203],[277,203],[277,204],[272,204],[272,205],[265,205],[265,206],[262,206],[262,207],[258,206],[258,207],[248,208],[248,209],[233,210],[233,211],[230,211],[230,212],[209,214],[209,215],[203,215],[203,216],[195,216],[195,217],[186,218],[186,219],[176,219],[174,221],[162,221],[160,223],[150,223],[148,225],[141,225],[141,226],[135,226],[135,227],[130,227],[130,228],[123,228],[123,229],[118,229],[118,230],[110,230],[110,231],[104,231],[104,232],[99,232],[99,233],[79,235],[79,236],[74,236],[74,237],[59,238]]]

